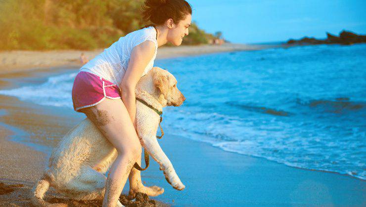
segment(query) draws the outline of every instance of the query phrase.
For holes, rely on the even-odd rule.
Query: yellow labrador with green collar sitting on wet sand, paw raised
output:
[[[169,105],[180,106],[185,98],[176,84],[177,80],[170,72],[154,67],[138,81],[136,98],[158,111],[162,111],[163,107]],[[137,135],[141,145],[158,162],[166,180],[175,189],[183,190],[185,186],[156,139],[160,121],[158,113],[146,104],[137,101],[136,120]],[[116,156],[117,151],[112,144],[102,136],[88,118],[84,119],[71,129],[52,150],[44,176],[32,190],[33,205],[65,206],[64,204],[51,205],[43,200],[49,186],[54,187],[63,196],[75,200],[102,200],[106,181],[104,174]],[[136,181],[139,182],[137,186],[143,186],[140,183],[141,180]],[[164,192],[164,189],[153,187],[155,187],[156,195]],[[132,189],[130,195],[135,195],[138,191],[139,189]],[[122,205],[118,202],[117,206]]]

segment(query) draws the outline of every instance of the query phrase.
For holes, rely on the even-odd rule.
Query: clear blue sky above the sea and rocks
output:
[[[342,30],[366,35],[366,0],[187,0],[192,21],[233,43],[264,43]]]

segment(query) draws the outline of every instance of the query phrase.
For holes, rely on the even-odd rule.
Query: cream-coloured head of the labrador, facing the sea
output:
[[[177,88],[176,78],[167,70],[153,67],[145,76],[141,77],[137,84],[138,93],[147,92],[154,97],[159,104],[164,106],[180,106],[185,97]]]

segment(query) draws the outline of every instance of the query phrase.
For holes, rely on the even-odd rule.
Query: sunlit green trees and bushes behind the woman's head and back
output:
[[[138,30],[143,0],[0,0],[0,50],[106,48]],[[207,43],[196,24],[183,44]]]

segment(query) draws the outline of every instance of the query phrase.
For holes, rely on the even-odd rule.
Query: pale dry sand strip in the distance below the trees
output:
[[[274,47],[282,47],[282,45],[225,43],[223,45],[161,47],[158,49],[156,60],[219,52],[261,50]],[[91,60],[102,51],[103,49],[93,51],[0,51],[0,74],[47,68],[80,68],[82,66],[79,61],[81,53],[84,53],[85,56]]]

